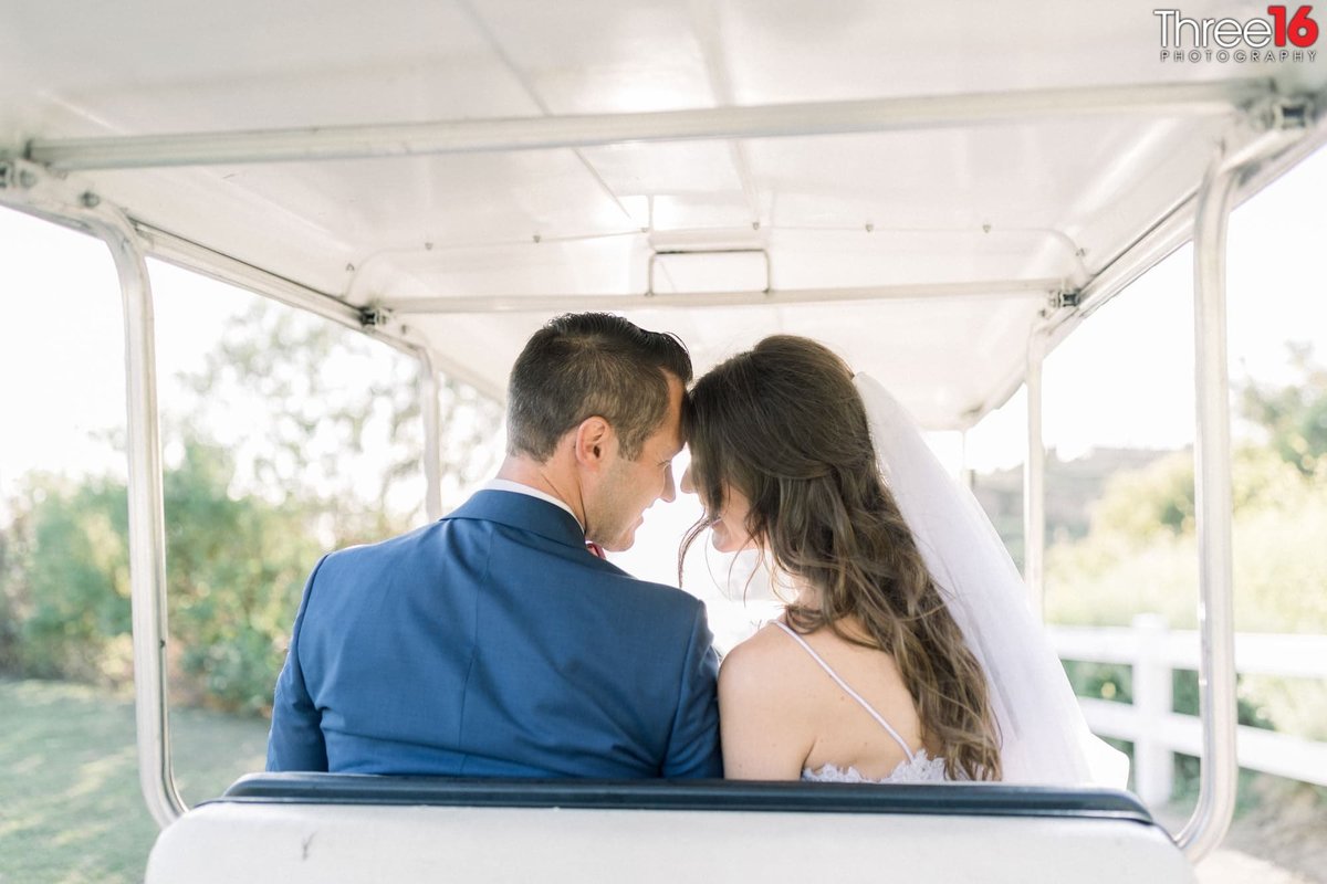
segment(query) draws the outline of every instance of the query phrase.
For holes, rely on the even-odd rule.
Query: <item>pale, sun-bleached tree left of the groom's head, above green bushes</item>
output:
[[[418,364],[318,317],[259,301],[186,376],[187,432],[231,448],[235,490],[295,500],[328,546],[381,539],[419,518],[423,431]],[[445,489],[488,470],[496,403],[442,379]]]

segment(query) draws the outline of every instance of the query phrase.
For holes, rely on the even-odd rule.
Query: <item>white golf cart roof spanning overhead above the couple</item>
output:
[[[1161,61],[1153,9],[4,3],[0,156],[499,398],[529,331],[605,309],[698,370],[823,339],[961,429],[1189,237],[1218,146],[1285,143],[1247,193],[1324,139],[1327,58]]]

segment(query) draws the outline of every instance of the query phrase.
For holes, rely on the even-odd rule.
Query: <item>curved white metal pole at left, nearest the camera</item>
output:
[[[129,574],[134,635],[138,781],[157,824],[184,812],[170,763],[166,701],[166,516],[157,414],[153,292],[143,253],[127,224],[84,219],[115,261],[125,305],[125,378],[129,403]]]

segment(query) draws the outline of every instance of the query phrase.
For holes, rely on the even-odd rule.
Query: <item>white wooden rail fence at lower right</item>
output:
[[[1172,753],[1202,754],[1197,717],[1172,712],[1172,669],[1198,668],[1198,634],[1170,631],[1165,619],[1144,614],[1127,627],[1048,628],[1062,660],[1123,663],[1133,668],[1133,702],[1080,697],[1088,726],[1103,737],[1133,744],[1133,782],[1148,804],[1170,797]],[[1235,635],[1235,669],[1242,675],[1327,679],[1327,636]],[[1241,725],[1239,766],[1327,786],[1327,742]]]

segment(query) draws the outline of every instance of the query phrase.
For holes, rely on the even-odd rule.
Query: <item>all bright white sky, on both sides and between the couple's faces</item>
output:
[[[1229,330],[1231,375],[1286,379],[1286,342],[1308,341],[1327,359],[1327,151],[1292,170],[1231,221]],[[1099,310],[1047,359],[1044,436],[1062,456],[1092,447],[1180,447],[1193,439],[1190,250],[1154,268]],[[159,388],[202,366],[224,319],[252,296],[163,265],[157,288]],[[113,469],[98,433],[123,428],[122,321],[105,247],[0,209],[0,500],[31,469],[78,474]],[[1022,395],[969,433],[969,463],[1020,463]],[[955,440],[937,447],[955,451]],[[698,516],[694,498],[657,505],[640,550],[622,563],[671,582],[677,538]],[[4,509],[0,504],[0,517]],[[726,570],[711,554],[713,569]]]

